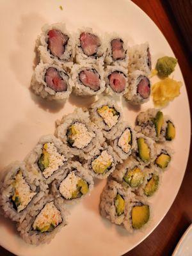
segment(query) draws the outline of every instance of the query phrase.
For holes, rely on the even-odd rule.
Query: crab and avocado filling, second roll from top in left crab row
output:
[[[89,132],[86,125],[76,122],[67,130],[67,141],[72,147],[83,149],[95,138],[94,132]]]

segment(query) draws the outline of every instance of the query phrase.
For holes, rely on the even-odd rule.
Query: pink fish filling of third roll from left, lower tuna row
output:
[[[116,93],[124,92],[126,86],[125,76],[122,72],[114,71],[108,76],[109,85]]]

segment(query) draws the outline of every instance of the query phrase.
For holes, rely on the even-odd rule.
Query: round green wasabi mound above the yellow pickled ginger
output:
[[[168,77],[175,70],[177,59],[173,57],[164,56],[157,60],[156,70],[160,77]]]

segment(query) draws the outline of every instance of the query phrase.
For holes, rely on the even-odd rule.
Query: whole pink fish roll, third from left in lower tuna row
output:
[[[124,95],[129,88],[127,70],[120,66],[107,66],[105,71],[106,93]]]

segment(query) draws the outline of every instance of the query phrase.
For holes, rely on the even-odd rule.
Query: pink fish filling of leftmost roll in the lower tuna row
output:
[[[66,92],[67,81],[63,80],[56,68],[48,68],[45,73],[45,83],[55,92]]]

